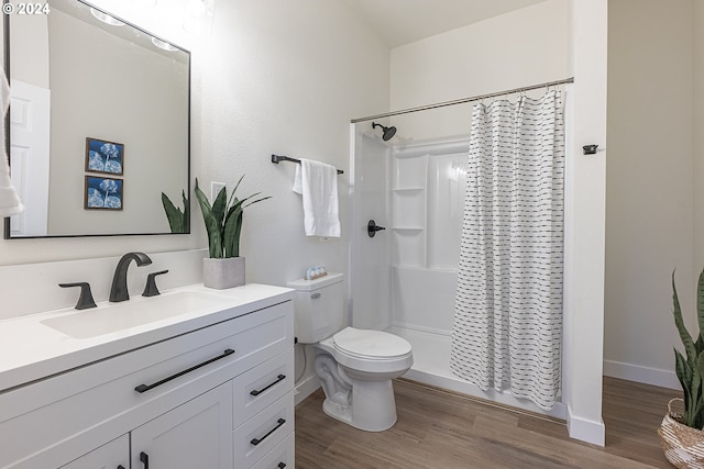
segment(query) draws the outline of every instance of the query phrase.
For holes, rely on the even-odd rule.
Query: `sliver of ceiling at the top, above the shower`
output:
[[[346,0],[389,47],[542,1],[546,0]]]

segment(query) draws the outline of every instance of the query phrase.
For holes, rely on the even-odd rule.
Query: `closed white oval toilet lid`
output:
[[[369,359],[389,359],[410,354],[410,344],[406,339],[381,331],[346,327],[333,335],[332,340],[338,350]]]

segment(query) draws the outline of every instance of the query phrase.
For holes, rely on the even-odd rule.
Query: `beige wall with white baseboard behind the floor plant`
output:
[[[676,268],[683,314],[695,331],[694,287],[704,260],[704,216],[694,203],[704,196],[704,107],[693,107],[694,83],[700,104],[703,89],[700,3],[608,3],[605,372],[674,388],[672,347],[680,339],[671,275]]]

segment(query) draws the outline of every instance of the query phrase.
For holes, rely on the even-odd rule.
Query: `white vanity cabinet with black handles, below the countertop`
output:
[[[271,303],[0,392],[0,468],[293,468],[293,302]]]

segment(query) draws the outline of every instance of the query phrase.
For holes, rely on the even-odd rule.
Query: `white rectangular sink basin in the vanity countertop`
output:
[[[158,297],[136,297],[120,303],[100,304],[42,324],[74,338],[116,333],[186,313],[217,312],[232,305],[232,299],[198,291],[179,291]]]

